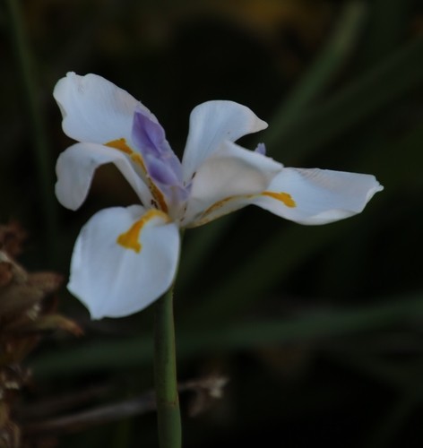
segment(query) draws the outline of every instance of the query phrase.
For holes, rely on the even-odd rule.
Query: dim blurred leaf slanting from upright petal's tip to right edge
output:
[[[359,76],[324,104],[310,108],[288,129],[272,122],[264,142],[272,156],[291,164],[364,123],[423,84],[423,37],[415,39]]]

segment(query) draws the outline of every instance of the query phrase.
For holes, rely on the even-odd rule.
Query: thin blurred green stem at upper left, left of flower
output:
[[[33,140],[34,161],[38,174],[39,195],[42,198],[42,208],[46,227],[47,254],[50,262],[56,258],[56,201],[53,194],[53,170],[47,151],[42,113],[39,108],[38,88],[34,82],[34,70],[30,56],[30,47],[25,39],[22,24],[22,13],[17,0],[7,0],[10,37],[14,47],[16,63],[22,78],[22,93],[26,101],[30,131]]]

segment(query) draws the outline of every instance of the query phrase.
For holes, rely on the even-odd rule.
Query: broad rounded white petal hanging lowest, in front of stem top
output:
[[[174,280],[180,244],[174,223],[150,220],[142,228],[139,253],[117,244],[117,237],[144,211],[138,205],[99,211],[77,238],[68,289],[88,307],[93,319],[141,311]]]

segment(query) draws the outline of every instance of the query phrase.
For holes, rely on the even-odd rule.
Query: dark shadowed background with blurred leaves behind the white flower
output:
[[[71,140],[52,90],[67,71],[98,73],[142,100],[179,155],[192,108],[231,99],[269,123],[241,141],[247,148],[264,142],[286,166],[371,173],[385,187],[362,214],[324,227],[250,207],[186,232],[176,290],[178,375],[182,382],[229,378],[223,397],[195,418],[188,417],[192,396],[182,395],[186,448],[275,440],[287,447],[421,446],[419,1],[19,6],[21,25],[0,5],[0,217],[28,230],[20,261],[30,271],[67,275],[73,242],[92,214],[136,201],[108,166],[79,211],[56,202],[54,165]],[[19,26],[27,57],[19,56]],[[44,340],[27,360],[34,381],[23,403],[37,409],[49,397],[105,386],[71,409],[77,412],[152,387],[152,307],[90,322],[65,288],[59,300],[85,335]],[[116,409],[112,423],[61,432],[57,445],[156,446],[152,413],[119,416]],[[51,437],[33,446],[52,446]]]

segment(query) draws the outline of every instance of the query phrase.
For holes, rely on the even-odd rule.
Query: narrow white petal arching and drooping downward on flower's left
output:
[[[68,209],[78,209],[88,194],[94,171],[106,163],[117,166],[142,203],[150,203],[151,192],[126,155],[96,143],[75,143],[60,154],[56,163],[58,201]]]

